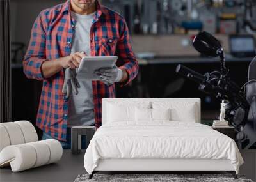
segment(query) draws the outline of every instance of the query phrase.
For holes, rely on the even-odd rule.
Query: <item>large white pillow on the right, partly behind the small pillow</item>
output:
[[[170,108],[172,121],[196,122],[198,120],[196,102],[152,102],[152,108]]]

